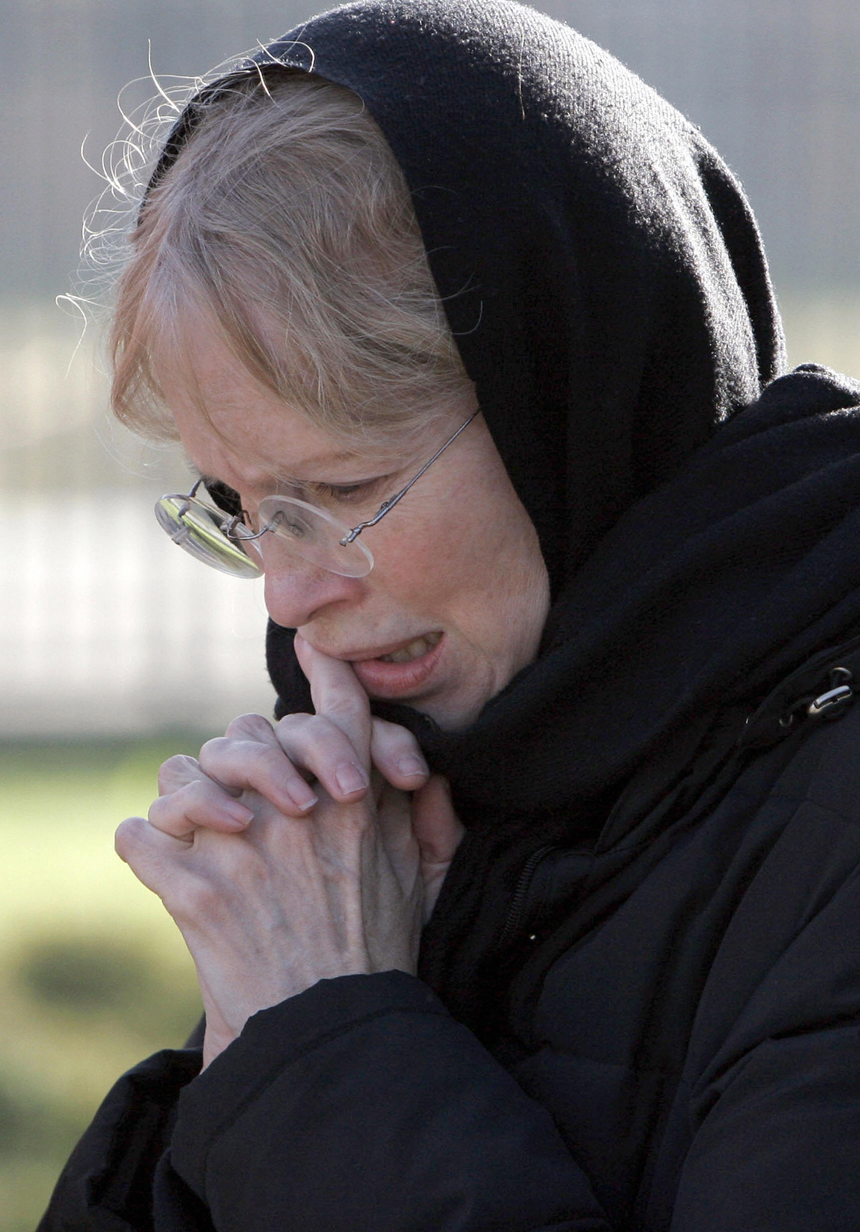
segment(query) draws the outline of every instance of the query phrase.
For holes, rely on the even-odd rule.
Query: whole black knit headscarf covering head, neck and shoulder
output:
[[[721,716],[860,627],[860,387],[774,379],[781,328],[737,181],[566,26],[508,0],[367,0],[258,62],[352,89],[388,139],[551,574],[536,663],[467,732],[377,707],[469,827],[423,967],[462,1002],[476,920],[529,850],[623,838],[632,781],[665,798]],[[270,625],[267,657],[277,712],[307,710],[291,631]]]

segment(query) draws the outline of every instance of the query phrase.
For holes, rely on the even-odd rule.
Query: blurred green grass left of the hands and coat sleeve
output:
[[[113,1079],[200,1014],[179,933],[113,854],[159,763],[198,745],[0,745],[0,1232],[32,1232]]]

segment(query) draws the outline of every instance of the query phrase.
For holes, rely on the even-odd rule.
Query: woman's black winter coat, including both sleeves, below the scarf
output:
[[[419,979],[322,981],[126,1074],[39,1232],[854,1232],[860,708],[813,723],[632,887],[531,861],[489,1048]]]

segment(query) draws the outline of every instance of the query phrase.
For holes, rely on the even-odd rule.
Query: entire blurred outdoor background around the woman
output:
[[[159,761],[269,713],[255,583],[158,530],[181,458],[112,426],[79,286],[86,166],[127,107],[319,5],[0,0],[0,1232],[31,1232],[112,1079],[175,1046],[193,975],[112,854]],[[856,0],[556,0],[694,120],[757,211],[793,363],[860,375]],[[84,276],[87,277],[86,275]],[[182,488],[184,490],[184,488]],[[14,533],[9,533],[14,531]]]

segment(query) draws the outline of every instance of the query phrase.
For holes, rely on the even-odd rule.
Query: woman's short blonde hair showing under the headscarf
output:
[[[175,437],[154,371],[184,325],[338,435],[419,429],[471,392],[403,172],[361,100],[283,68],[227,80],[149,191],[116,287],[116,415]]]

